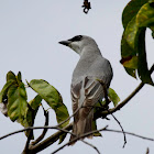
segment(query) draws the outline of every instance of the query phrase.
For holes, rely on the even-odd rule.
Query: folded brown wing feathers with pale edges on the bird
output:
[[[85,99],[80,100],[80,90],[84,88]],[[75,112],[80,106],[82,108],[76,113],[75,122],[79,119],[84,120],[87,118],[92,109],[92,106],[98,102],[99,99],[103,97],[103,89],[99,81],[90,77],[86,77],[84,81],[80,81],[72,86],[72,100],[73,100],[73,111]],[[82,102],[79,102],[82,101]]]

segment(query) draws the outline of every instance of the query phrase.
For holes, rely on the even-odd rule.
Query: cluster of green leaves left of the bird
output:
[[[33,127],[35,116],[42,105],[42,99],[55,111],[58,123],[69,117],[59,92],[47,81],[33,79],[28,85],[37,92],[37,96],[30,102],[28,102],[26,89],[22,82],[21,73],[19,72],[16,76],[12,72],[7,74],[7,82],[0,92],[0,102],[7,103],[4,106],[7,108],[7,116],[12,122],[18,121],[24,128]],[[65,122],[61,128],[66,127],[69,121]],[[28,136],[29,132],[25,133]],[[62,140],[62,136],[59,139]]]

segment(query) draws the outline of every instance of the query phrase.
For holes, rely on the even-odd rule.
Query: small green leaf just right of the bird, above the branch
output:
[[[118,102],[120,101],[120,98],[117,95],[117,92],[113,89],[109,88],[108,96],[116,107],[118,105]]]

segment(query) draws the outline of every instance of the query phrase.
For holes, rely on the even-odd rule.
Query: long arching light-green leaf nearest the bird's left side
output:
[[[52,107],[56,113],[56,120],[58,123],[63,122],[69,117],[67,108],[63,103],[59,92],[47,81],[42,79],[33,79],[29,85],[48,103],[50,107]],[[62,124],[62,127],[64,128],[68,123],[69,121]]]

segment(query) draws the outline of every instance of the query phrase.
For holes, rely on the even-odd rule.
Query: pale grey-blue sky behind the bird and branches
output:
[[[63,96],[64,103],[72,113],[69,85],[72,73],[78,62],[78,55],[72,50],[58,44],[59,41],[78,34],[94,37],[113,67],[114,77],[111,87],[123,100],[140,84],[123,69],[120,61],[120,42],[122,35],[121,14],[129,0],[100,1],[90,0],[92,9],[88,14],[82,13],[84,0],[0,0],[0,89],[6,82],[9,70],[15,74],[21,70],[23,81],[28,79],[45,79],[55,86]],[[153,64],[154,41],[147,31],[147,61]],[[153,75],[154,78],[154,75]],[[29,91],[29,100],[35,94]],[[125,107],[114,116],[123,129],[129,132],[154,138],[154,88],[145,86]],[[120,130],[118,123],[111,120],[98,120],[98,128],[109,124],[110,129]],[[40,110],[36,125],[44,124]],[[51,113],[51,125],[55,124],[55,116]],[[0,114],[0,136],[22,129],[19,123],[11,122]],[[38,134],[40,131],[36,131]],[[48,131],[51,135],[53,131]],[[154,153],[154,142],[144,141],[127,135],[128,143],[123,145],[123,135],[102,133],[103,138],[87,140],[96,145],[103,154],[144,154],[146,147]],[[68,138],[65,140],[68,141]],[[23,133],[0,141],[0,153],[20,154],[25,144]],[[57,148],[57,142],[42,151],[50,154]],[[65,147],[59,154],[95,154],[95,150],[78,142],[75,146]]]

